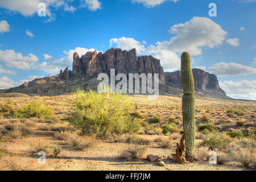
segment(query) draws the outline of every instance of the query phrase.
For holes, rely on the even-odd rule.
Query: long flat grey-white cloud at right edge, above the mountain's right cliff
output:
[[[216,63],[212,67],[196,67],[217,76],[239,76],[256,73],[256,68],[238,63]]]

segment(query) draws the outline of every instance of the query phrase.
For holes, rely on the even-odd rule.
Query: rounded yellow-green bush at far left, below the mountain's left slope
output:
[[[44,107],[42,103],[33,102],[24,106],[20,106],[14,111],[14,118],[39,118],[39,119],[55,119],[54,111],[51,107]]]

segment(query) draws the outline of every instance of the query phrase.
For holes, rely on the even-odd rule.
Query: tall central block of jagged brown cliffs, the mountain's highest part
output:
[[[79,57],[73,54],[73,74],[84,72],[86,76],[95,76],[99,73],[159,73],[159,79],[164,80],[164,71],[159,59],[153,56],[137,57],[136,49],[122,51],[122,49],[109,49],[105,53],[89,51]],[[63,73],[64,75],[64,73]]]

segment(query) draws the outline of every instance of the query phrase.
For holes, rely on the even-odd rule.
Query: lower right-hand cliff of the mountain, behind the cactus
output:
[[[209,74],[201,69],[194,68],[192,69],[194,82],[195,82],[195,90],[216,90],[223,96],[226,96],[224,90],[220,88],[218,84],[217,77],[213,74]],[[166,72],[165,81],[173,84],[177,88],[181,88],[181,80],[180,80],[180,71],[176,72]]]

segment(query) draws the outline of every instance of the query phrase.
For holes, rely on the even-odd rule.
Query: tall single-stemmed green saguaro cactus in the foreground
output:
[[[195,150],[195,85],[191,69],[191,56],[188,52],[181,55],[181,85],[183,88],[182,115],[183,127],[186,133],[186,159],[190,162],[194,159]]]

